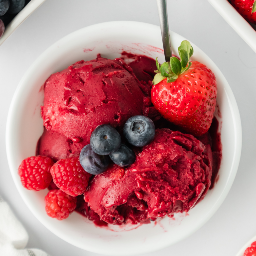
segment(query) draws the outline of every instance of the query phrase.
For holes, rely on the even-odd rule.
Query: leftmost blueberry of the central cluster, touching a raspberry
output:
[[[85,171],[97,175],[107,169],[109,156],[97,155],[92,151],[90,144],[88,144],[81,150],[79,161]]]

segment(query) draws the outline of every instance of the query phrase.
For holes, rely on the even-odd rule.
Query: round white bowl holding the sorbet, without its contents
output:
[[[132,255],[147,253],[170,246],[193,234],[217,211],[225,199],[237,171],[242,128],[234,95],[221,71],[194,44],[192,60],[198,60],[213,70],[218,83],[217,103],[222,114],[221,139],[223,159],[219,180],[204,200],[185,214],[177,214],[175,220],[168,217],[156,223],[134,227],[96,227],[83,216],[72,213],[66,220],[48,217],[44,210],[47,189],[33,192],[23,188],[17,174],[23,159],[35,155],[36,143],[43,131],[40,105],[43,104],[42,85],[57,71],[78,60],[91,60],[98,53],[110,59],[120,57],[122,51],[144,54],[164,61],[161,31],[158,26],[118,21],[96,24],[67,35],[32,64],[22,78],[11,102],[7,128],[6,150],[13,180],[22,198],[38,220],[57,236],[79,248],[108,255]],[[185,40],[171,32],[174,54]],[[131,229],[129,231],[125,231]],[[125,248],[125,249],[124,249]]]

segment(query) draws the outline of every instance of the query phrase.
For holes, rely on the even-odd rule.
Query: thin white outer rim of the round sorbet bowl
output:
[[[39,218],[39,216],[37,216],[29,202],[29,200],[26,198],[25,194],[23,193],[22,189],[20,188],[20,186],[18,186],[18,181],[16,180],[15,178],[15,172],[17,172],[17,168],[13,165],[13,161],[12,161],[12,147],[11,147],[11,126],[12,126],[12,123],[13,123],[13,117],[15,115],[15,108],[18,107],[18,105],[16,104],[16,101],[19,97],[19,94],[20,92],[25,89],[25,86],[23,84],[25,78],[30,74],[31,70],[33,69],[33,66],[36,64],[36,63],[39,63],[43,58],[44,58],[44,55],[47,55],[49,53],[51,53],[51,51],[53,51],[55,49],[55,47],[57,47],[60,43],[63,43],[67,40],[69,40],[70,38],[72,38],[73,36],[75,36],[76,34],[80,34],[81,32],[83,33],[86,33],[87,30],[92,30],[92,29],[102,29],[104,27],[115,27],[115,26],[120,26],[123,25],[123,26],[127,26],[127,27],[131,27],[131,26],[143,26],[145,28],[148,28],[148,29],[158,29],[160,30],[160,27],[159,26],[156,26],[156,25],[152,25],[152,24],[148,24],[148,23],[142,23],[142,22],[134,22],[134,21],[113,21],[113,22],[106,22],[106,23],[99,23],[99,24],[95,24],[95,25],[91,25],[91,26],[88,26],[88,27],[85,27],[85,28],[82,28],[82,29],[79,29],[75,32],[72,32],[71,34],[68,34],[67,36],[63,37],[62,39],[58,40],[56,43],[54,43],[53,45],[51,45],[48,49],[46,49],[33,63],[32,65],[30,66],[30,68],[27,70],[27,72],[24,74],[23,78],[21,79],[14,95],[13,95],[13,98],[12,98],[12,101],[11,101],[11,105],[10,105],[10,108],[9,108],[9,113],[8,113],[8,117],[7,117],[7,125],[6,125],[6,152],[7,152],[7,160],[8,160],[8,164],[9,164],[9,167],[10,167],[10,171],[11,171],[11,174],[12,174],[12,178],[14,180],[14,183],[20,193],[20,195],[22,196],[23,200],[25,201],[26,205],[28,206],[28,208],[30,209],[30,211],[35,215],[35,217],[46,227],[48,228],[50,231],[52,231],[54,234],[56,234],[57,236],[59,236],[60,238],[62,238],[64,241],[76,246],[76,247],[79,247],[79,248],[82,248],[82,249],[85,249],[85,250],[88,250],[88,251],[92,251],[92,252],[95,252],[95,253],[101,253],[101,254],[108,254],[108,255],[122,255],[122,253],[120,252],[111,252],[111,253],[107,253],[104,249],[101,249],[101,248],[92,248],[90,246],[88,247],[81,247],[81,245],[78,245],[78,244],[75,244],[73,242],[70,242],[68,241],[68,239],[65,237],[64,234],[62,234],[61,232],[58,232],[56,229],[54,229],[53,227],[51,227],[51,225],[49,223],[47,223],[47,221],[45,222],[44,220],[42,220],[41,218]],[[149,30],[150,31],[150,30]],[[176,34],[174,32],[171,32],[173,34]],[[200,50],[201,51],[201,50]],[[202,51],[201,51],[202,52]],[[205,54],[205,56],[207,56]],[[207,58],[209,58],[207,56]],[[209,60],[211,60],[209,58]],[[211,61],[212,62],[212,61]],[[212,67],[214,67],[215,69],[219,70],[218,67],[212,62]],[[233,184],[233,181],[234,181],[234,178],[235,178],[235,175],[236,175],[236,172],[237,172],[237,168],[238,168],[238,164],[239,164],[239,160],[240,160],[240,156],[241,156],[241,149],[242,149],[242,125],[241,125],[241,119],[240,119],[240,115],[239,115],[239,110],[238,110],[238,106],[237,106],[237,103],[235,101],[235,98],[234,98],[234,95],[232,93],[232,90],[230,88],[230,86],[228,85],[225,77],[223,76],[223,74],[221,73],[221,71],[219,70],[219,74],[221,75],[221,81],[224,81],[225,84],[227,85],[227,87],[225,87],[225,90],[227,92],[227,95],[229,97],[229,100],[230,100],[230,103],[232,105],[232,114],[233,114],[233,119],[234,119],[234,123],[235,123],[235,154],[233,156],[233,161],[232,161],[232,166],[230,167],[230,174],[229,174],[229,177],[228,177],[228,180],[226,182],[226,186],[224,187],[219,199],[217,200],[217,202],[212,205],[212,208],[211,208],[211,211],[209,211],[208,214],[205,215],[205,218],[200,222],[200,225],[198,225],[195,229],[191,230],[190,232],[188,232],[186,235],[184,235],[184,238],[188,237],[189,235],[193,234],[194,232],[196,232],[199,228],[201,228],[213,215],[214,213],[218,210],[218,208],[220,207],[220,205],[222,204],[222,202],[224,201],[224,199],[226,198],[232,184]],[[161,244],[161,245],[155,245],[154,246],[154,249],[150,248],[149,250],[138,250],[137,252],[133,252],[133,253],[130,253],[130,252],[123,252],[123,255],[132,255],[132,254],[141,254],[141,253],[149,253],[149,252],[152,252],[152,251],[157,251],[157,250],[160,250],[162,248],[165,248],[165,247],[168,247],[170,246],[171,244],[174,244],[174,243],[177,243],[179,242],[180,240],[182,239],[179,239],[178,241],[175,241],[173,243],[165,243],[164,245]]]

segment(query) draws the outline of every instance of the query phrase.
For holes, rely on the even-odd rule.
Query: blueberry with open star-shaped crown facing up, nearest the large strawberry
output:
[[[155,130],[155,125],[150,118],[134,116],[126,121],[123,133],[131,145],[143,147],[154,139]]]

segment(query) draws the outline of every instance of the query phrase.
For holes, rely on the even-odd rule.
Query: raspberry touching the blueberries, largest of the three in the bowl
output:
[[[70,196],[83,194],[91,177],[81,166],[79,157],[59,160],[51,168],[51,174],[57,187]]]

